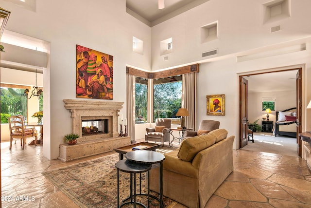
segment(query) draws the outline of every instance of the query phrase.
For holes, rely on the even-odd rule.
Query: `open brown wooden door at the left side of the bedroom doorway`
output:
[[[240,105],[240,128],[239,128],[239,148],[247,145],[247,80],[240,76],[239,78],[239,105]]]

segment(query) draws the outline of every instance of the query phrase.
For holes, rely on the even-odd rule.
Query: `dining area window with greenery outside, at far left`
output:
[[[23,115],[27,121],[27,98],[23,96],[24,90],[25,88],[1,86],[1,123],[7,123],[11,115]]]

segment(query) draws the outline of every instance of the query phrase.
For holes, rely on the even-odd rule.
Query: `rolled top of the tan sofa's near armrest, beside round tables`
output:
[[[186,175],[192,178],[198,177],[198,170],[194,168],[191,162],[183,161],[177,157],[178,151],[165,153],[163,169]]]

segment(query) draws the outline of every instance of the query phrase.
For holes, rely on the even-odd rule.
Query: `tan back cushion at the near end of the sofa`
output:
[[[181,143],[178,151],[178,157],[181,160],[191,162],[199,151],[215,144],[215,141],[216,136],[211,133],[188,138]]]

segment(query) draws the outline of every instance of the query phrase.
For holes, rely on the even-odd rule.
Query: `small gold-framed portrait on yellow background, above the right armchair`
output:
[[[225,94],[206,95],[207,115],[225,115]]]

